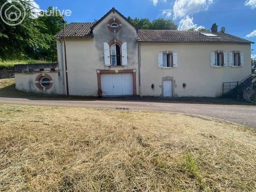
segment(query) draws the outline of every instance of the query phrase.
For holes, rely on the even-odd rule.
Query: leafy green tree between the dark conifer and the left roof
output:
[[[60,12],[54,10],[52,7],[48,7],[47,12],[41,12],[37,20],[44,23],[45,27],[38,29],[42,34],[48,37],[47,44],[50,47],[39,47],[36,50],[34,57],[36,57],[36,59],[43,58],[44,60],[52,60],[52,62],[54,62],[57,60],[56,38],[54,36],[62,29],[63,26],[60,21]]]

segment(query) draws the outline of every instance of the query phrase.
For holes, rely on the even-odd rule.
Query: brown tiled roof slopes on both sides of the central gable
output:
[[[66,26],[66,37],[93,37],[92,26],[94,23],[70,23]],[[218,37],[209,37],[198,31],[179,30],[138,30],[138,42],[231,42],[231,43],[254,43],[227,33],[213,33]],[[63,37],[63,30],[56,34]]]

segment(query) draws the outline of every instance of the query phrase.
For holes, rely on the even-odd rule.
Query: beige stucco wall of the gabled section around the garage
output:
[[[107,28],[108,20],[118,18],[122,22],[120,32],[114,34]],[[124,18],[117,13],[109,14],[93,30],[94,38],[67,38],[67,66],[70,95],[97,96],[97,70],[135,70],[138,75],[137,32]],[[105,66],[103,43],[111,40],[127,42],[127,66]],[[63,39],[60,39],[62,45]],[[60,42],[57,41],[58,63],[62,63]],[[62,46],[64,52],[64,47]],[[63,55],[64,56],[64,55]],[[64,57],[63,57],[64,60]],[[62,70],[62,69],[61,69]],[[139,79],[136,78],[139,91]],[[137,91],[137,92],[138,92]]]

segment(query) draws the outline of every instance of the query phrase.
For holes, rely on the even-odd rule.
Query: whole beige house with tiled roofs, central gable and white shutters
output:
[[[115,8],[96,23],[70,23],[58,63],[17,65],[26,92],[97,96],[216,97],[223,82],[251,74],[251,43],[218,32],[138,30]],[[66,79],[66,72],[68,79]],[[68,88],[67,88],[68,87]]]

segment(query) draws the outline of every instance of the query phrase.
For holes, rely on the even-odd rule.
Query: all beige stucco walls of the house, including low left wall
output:
[[[112,9],[113,10],[113,9]],[[113,32],[110,20],[118,20],[121,29]],[[223,82],[237,82],[251,74],[250,43],[219,42],[137,42],[137,30],[124,16],[110,11],[92,28],[93,36],[67,37],[66,58],[68,89],[70,95],[98,96],[102,73],[132,73],[133,92],[139,96],[164,96],[164,81],[172,80],[173,97],[217,97],[222,95]],[[105,45],[111,42],[127,44],[127,66],[106,66]],[[224,53],[243,53],[244,66],[212,67],[210,54],[216,50]],[[159,68],[158,54],[171,51],[178,54],[175,68]],[[16,73],[16,88],[26,92],[67,94],[64,58],[64,39],[57,39],[58,72],[52,77],[50,89],[39,90],[35,79],[41,69]],[[185,86],[184,86],[185,85]]]

